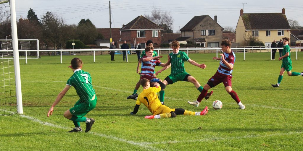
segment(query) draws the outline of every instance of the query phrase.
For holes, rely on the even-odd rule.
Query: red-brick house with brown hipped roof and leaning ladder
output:
[[[161,34],[163,28],[148,20],[144,16],[138,16],[126,25],[119,29],[121,41],[119,45],[126,40],[128,44],[136,44],[137,41],[141,44],[141,48],[145,48],[145,43],[152,40],[154,45],[161,44]]]

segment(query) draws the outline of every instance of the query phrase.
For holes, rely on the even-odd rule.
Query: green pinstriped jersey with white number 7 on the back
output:
[[[89,102],[95,98],[92,77],[88,72],[82,71],[81,69],[75,70],[72,77],[67,80],[66,85],[75,87],[75,90],[80,97],[80,102]]]

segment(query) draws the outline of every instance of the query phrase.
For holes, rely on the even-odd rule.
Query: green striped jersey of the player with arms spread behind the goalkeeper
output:
[[[177,75],[186,72],[184,69],[184,61],[188,61],[189,57],[185,52],[179,51],[178,54],[170,53],[171,59],[171,74]]]

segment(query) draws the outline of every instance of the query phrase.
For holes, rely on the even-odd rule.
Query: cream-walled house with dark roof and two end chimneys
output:
[[[240,10],[240,17],[236,27],[236,39],[240,46],[244,46],[244,38],[258,37],[266,47],[279,41],[283,37],[290,38],[290,26],[285,15],[285,8],[281,13],[244,13]]]

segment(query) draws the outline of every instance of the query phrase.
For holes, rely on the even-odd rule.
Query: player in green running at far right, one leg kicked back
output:
[[[292,66],[291,66],[291,58],[290,58],[290,48],[289,48],[289,38],[284,37],[283,39],[283,52],[282,52],[282,57],[279,57],[279,61],[282,60],[282,65],[281,65],[281,70],[280,70],[280,75],[278,77],[278,83],[277,84],[271,84],[272,87],[280,87],[283,74],[286,71],[288,76],[298,76],[301,75],[303,76],[303,72],[291,72]]]

